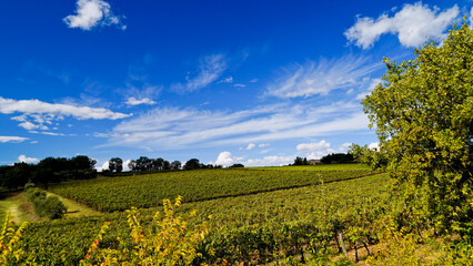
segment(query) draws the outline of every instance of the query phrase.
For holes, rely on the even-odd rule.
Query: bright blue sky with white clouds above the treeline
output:
[[[0,165],[88,155],[245,166],[375,146],[383,58],[441,43],[473,1],[8,1]]]

